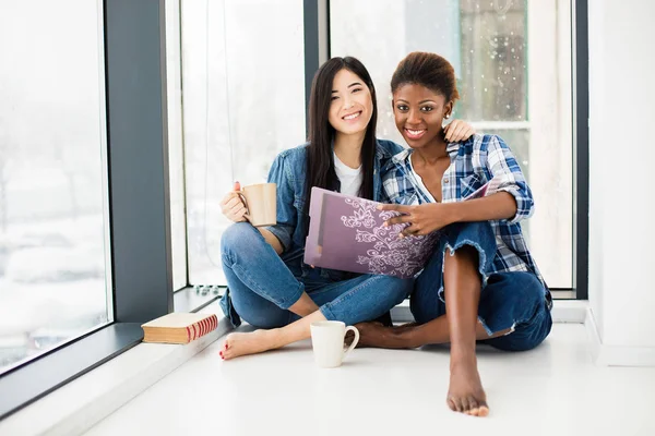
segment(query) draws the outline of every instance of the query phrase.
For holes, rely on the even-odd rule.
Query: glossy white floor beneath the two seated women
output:
[[[355,350],[314,367],[311,343],[223,362],[222,340],[102,421],[100,435],[655,435],[655,368],[598,367],[582,325],[537,350],[479,348],[490,416],[444,402],[448,349]]]

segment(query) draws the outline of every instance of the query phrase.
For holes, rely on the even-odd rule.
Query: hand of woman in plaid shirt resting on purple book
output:
[[[457,203],[426,203],[418,206],[384,204],[378,206],[378,209],[395,210],[403,214],[384,222],[384,226],[410,223],[401,232],[402,238],[425,235],[455,222],[456,206]]]

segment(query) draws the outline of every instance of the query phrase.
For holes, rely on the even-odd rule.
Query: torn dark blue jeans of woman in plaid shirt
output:
[[[513,328],[509,335],[479,341],[507,351],[524,351],[546,339],[552,318],[546,295],[548,289],[532,272],[490,272],[496,255],[496,237],[488,222],[452,225],[444,229],[438,249],[416,279],[410,298],[414,318],[419,324],[445,315],[443,299],[443,266],[446,250],[451,254],[464,245],[479,254],[478,270],[483,289],[478,319],[489,335]],[[450,290],[449,292],[456,292]]]

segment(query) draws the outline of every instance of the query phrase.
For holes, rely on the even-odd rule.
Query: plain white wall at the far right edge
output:
[[[655,2],[590,8],[590,301],[604,346],[655,348]]]

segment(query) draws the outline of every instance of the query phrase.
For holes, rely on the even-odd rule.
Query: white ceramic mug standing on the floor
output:
[[[344,350],[346,331],[355,332],[355,340]],[[353,350],[359,341],[359,330],[348,326],[341,320],[320,320],[311,323],[311,346],[313,348],[314,361],[320,367],[337,367],[346,354]]]

